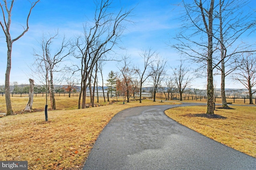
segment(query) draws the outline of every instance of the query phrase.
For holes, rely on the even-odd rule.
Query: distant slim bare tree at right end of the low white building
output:
[[[160,86],[161,81],[164,78],[164,75],[166,74],[165,70],[166,66],[166,59],[156,59],[156,61],[152,62],[151,67],[151,78],[153,80],[153,102],[156,102],[156,92],[158,90],[158,87]]]

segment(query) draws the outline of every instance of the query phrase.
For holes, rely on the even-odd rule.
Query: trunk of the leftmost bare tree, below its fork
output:
[[[10,72],[11,72],[11,56],[12,56],[12,39],[9,36],[6,37],[7,42],[7,67],[6,67],[6,73],[5,73],[5,102],[6,102],[6,115],[14,115],[14,112],[12,110],[12,103],[11,103],[11,97],[10,97]]]

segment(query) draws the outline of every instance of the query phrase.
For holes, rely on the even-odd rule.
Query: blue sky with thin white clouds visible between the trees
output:
[[[134,8],[130,18],[134,24],[129,24],[122,37],[122,43],[127,53],[134,63],[139,64],[138,56],[141,49],[152,47],[160,56],[168,59],[168,67],[179,64],[180,55],[171,49],[167,43],[179,29],[178,18],[180,12],[174,4],[180,0],[113,0],[113,10],[123,8]],[[255,6],[255,2],[251,5]],[[22,31],[22,26],[26,23],[26,14],[29,9],[27,0],[17,0],[12,11],[12,38]],[[38,49],[42,33],[54,33],[59,30],[60,37],[67,38],[80,35],[83,31],[83,23],[90,20],[94,15],[93,0],[41,0],[33,9],[29,31],[14,42],[12,49],[12,70],[10,82],[28,84],[28,79],[32,77],[28,66],[34,62],[33,49]],[[2,16],[0,16],[2,20]],[[0,31],[0,84],[4,84],[6,71],[6,42]],[[253,35],[254,36],[254,35]],[[172,40],[171,40],[172,41]],[[72,59],[72,58],[70,58]],[[110,70],[117,71],[115,62],[108,62],[104,67],[105,76]],[[220,78],[216,77],[217,87],[220,87]],[[196,80],[195,82],[198,82]],[[206,79],[200,80],[200,86],[193,88],[205,88]],[[233,88],[233,82],[227,83],[226,88]],[[237,87],[237,86],[236,86]],[[242,87],[242,86],[241,86]]]

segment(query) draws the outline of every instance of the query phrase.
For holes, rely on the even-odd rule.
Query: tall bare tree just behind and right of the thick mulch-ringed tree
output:
[[[246,31],[255,29],[256,22],[253,18],[255,12],[250,12],[247,6],[248,0],[219,0],[219,11],[218,19],[219,24],[219,35],[220,37],[214,36],[220,42],[220,61],[221,66],[216,68],[221,72],[221,98],[222,107],[228,107],[225,94],[225,78],[232,73],[236,67],[230,67],[234,64],[237,54],[244,52],[252,52],[250,45],[241,44],[235,49],[232,49],[232,44],[237,42],[238,38],[241,37]],[[244,10],[246,10],[246,12]],[[228,63],[229,61],[229,63]],[[225,68],[228,68],[226,70]]]

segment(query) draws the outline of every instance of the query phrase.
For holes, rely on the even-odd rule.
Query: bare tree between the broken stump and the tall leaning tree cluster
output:
[[[61,62],[63,62],[66,57],[72,55],[74,52],[74,48],[71,47],[69,41],[65,40],[65,37],[62,39],[59,49],[52,52],[50,47],[54,39],[57,38],[58,32],[56,32],[54,35],[49,34],[49,37],[44,37],[43,35],[40,42],[40,51],[34,52],[37,72],[39,74],[43,74],[42,78],[44,78],[44,80],[48,83],[48,86],[46,87],[49,89],[52,109],[56,109],[54,81],[58,80],[57,78],[54,78],[54,73],[63,71],[64,67],[59,68]]]

